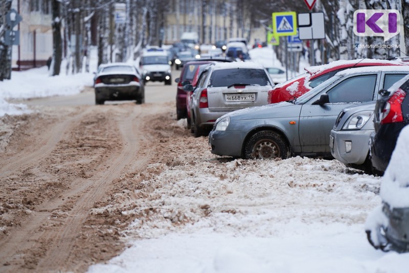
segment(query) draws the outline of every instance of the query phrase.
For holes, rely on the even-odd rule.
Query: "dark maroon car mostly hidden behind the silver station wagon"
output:
[[[196,69],[200,64],[211,63],[211,62],[230,62],[229,59],[214,58],[214,59],[196,59],[194,61],[189,61],[184,65],[182,71],[180,72],[180,77],[175,79],[177,83],[176,91],[176,119],[185,119],[188,117],[186,110],[186,97],[187,93],[183,89],[186,84],[191,84],[193,77],[195,75]]]

